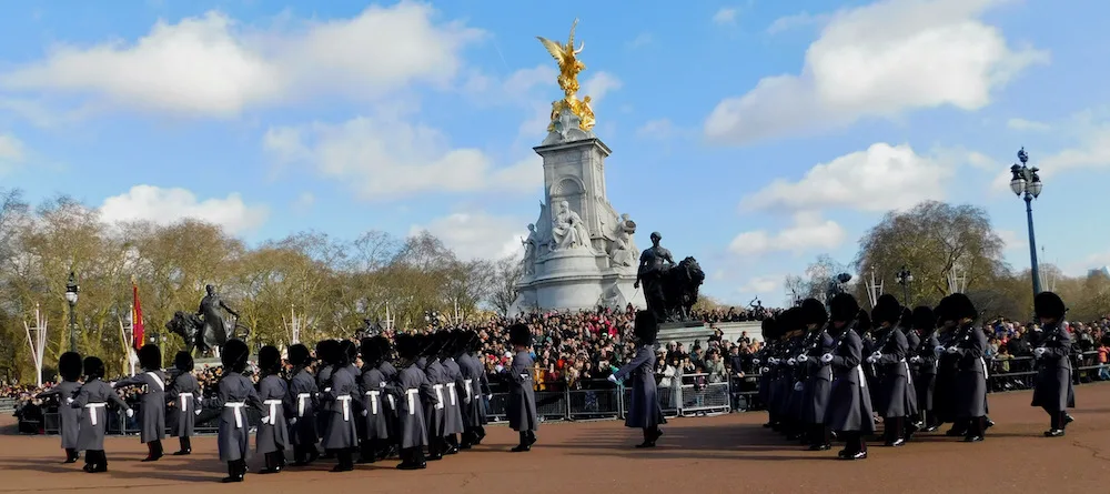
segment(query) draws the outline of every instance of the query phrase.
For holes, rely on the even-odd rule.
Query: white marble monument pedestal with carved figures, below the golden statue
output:
[[[544,158],[544,202],[524,241],[524,276],[511,313],[551,309],[645,308],[633,288],[639,251],[636,223],[617,214],[605,192],[612,151],[568,108],[535,148]]]

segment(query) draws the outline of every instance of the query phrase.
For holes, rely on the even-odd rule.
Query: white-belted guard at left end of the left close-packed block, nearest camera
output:
[[[250,349],[242,340],[232,339],[223,344],[220,360],[223,362],[223,376],[213,405],[220,413],[220,429],[216,445],[220,450],[220,461],[228,463],[228,476],[223,482],[243,482],[246,475],[246,457],[250,454],[250,426],[246,422],[246,410],[262,412],[262,400],[259,399],[254,383],[243,375],[246,370],[246,357]]]

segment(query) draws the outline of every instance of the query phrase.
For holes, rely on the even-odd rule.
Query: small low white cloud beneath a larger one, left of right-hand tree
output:
[[[821,219],[819,213],[797,213],[794,224],[778,233],[754,230],[736,235],[728,250],[744,256],[760,256],[771,252],[800,254],[811,250],[831,250],[844,243],[847,233],[837,222]]]

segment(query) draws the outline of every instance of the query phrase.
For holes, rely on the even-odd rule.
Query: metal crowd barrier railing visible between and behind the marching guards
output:
[[[1036,359],[1019,356],[1010,359],[988,359],[988,390],[1002,392],[1020,389],[1031,389],[1037,375]],[[1077,384],[1096,380],[1110,380],[1110,366],[1098,363],[1098,352],[1086,352],[1076,355],[1072,365]],[[1006,371],[1006,372],[1002,372]],[[660,376],[662,377],[662,376]],[[657,387],[657,399],[664,416],[694,416],[722,414],[731,411],[761,410],[759,401],[759,374],[733,375],[717,382],[710,382],[709,374],[679,374],[660,380]],[[536,412],[542,421],[583,421],[615,420],[627,416],[632,403],[632,387],[616,385],[608,381],[578,381],[568,385],[565,382],[539,383],[536,387]],[[486,410],[491,423],[507,422],[507,405],[509,393],[497,389],[486,400]],[[134,417],[109,410],[109,434],[138,434],[140,406]],[[220,410],[205,409],[196,417],[194,427],[198,434],[215,433],[219,427]],[[168,417],[169,420],[169,417]],[[258,427],[261,415],[253,409],[246,410],[249,427]],[[57,434],[59,420],[57,409],[47,409],[43,421],[47,434]]]

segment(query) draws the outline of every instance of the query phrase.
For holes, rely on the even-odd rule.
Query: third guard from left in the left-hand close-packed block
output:
[[[309,372],[312,355],[309,347],[300,343],[289,347],[289,363],[293,366],[292,377],[285,394],[285,416],[289,417],[289,438],[293,445],[293,466],[304,466],[320,457],[316,443],[316,379]]]

